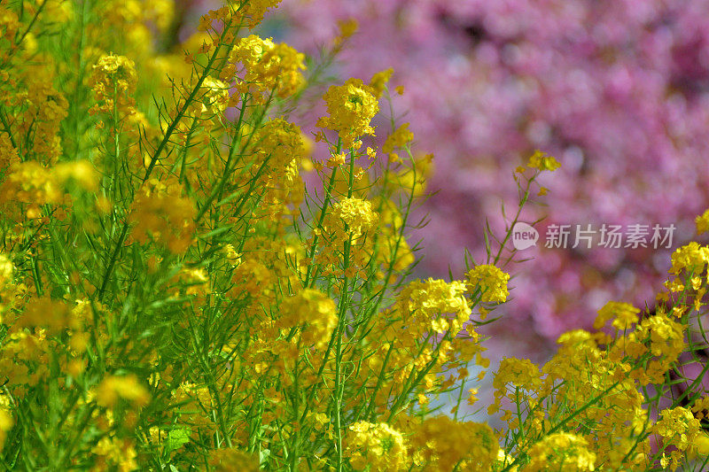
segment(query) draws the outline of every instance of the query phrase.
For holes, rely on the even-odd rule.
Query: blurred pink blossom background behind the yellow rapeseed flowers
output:
[[[182,6],[194,25],[214,3]],[[507,267],[494,352],[545,360],[606,301],[654,304],[670,253],[709,206],[709,0],[284,0],[260,34],[316,58],[347,19],[359,31],[328,72],[369,81],[393,67],[406,89],[397,119],[435,155],[417,275],[460,277],[464,248],[484,254],[486,218],[503,228],[512,173],[534,149],[562,163],[544,178],[545,205],[523,215],[545,217],[542,238],[550,224],[676,226],[670,249],[526,250]],[[297,121],[311,129],[316,116]],[[379,127],[386,137],[386,116]]]

